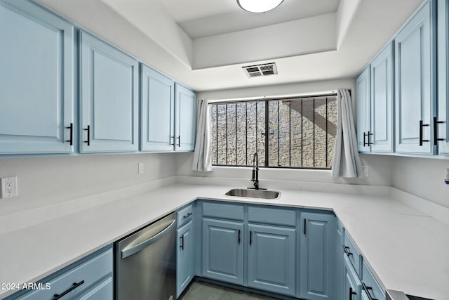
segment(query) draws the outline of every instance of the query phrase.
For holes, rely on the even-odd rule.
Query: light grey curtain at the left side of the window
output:
[[[196,142],[192,170],[212,171],[210,159],[210,109],[208,100],[199,100],[196,107],[199,117],[196,119]]]

